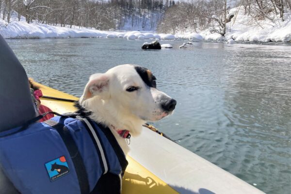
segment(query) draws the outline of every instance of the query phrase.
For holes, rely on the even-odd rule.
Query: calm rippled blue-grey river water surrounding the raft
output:
[[[291,191],[290,44],[124,39],[7,40],[29,77],[80,97],[88,77],[120,64],[152,70],[177,101],[155,126],[181,146],[268,194]]]

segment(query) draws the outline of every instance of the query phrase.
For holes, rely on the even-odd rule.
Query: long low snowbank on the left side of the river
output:
[[[67,28],[33,22],[12,21],[8,25],[0,21],[0,34],[6,39],[39,39],[39,38],[127,38],[174,40],[172,34],[157,34],[154,32],[114,32],[99,31],[86,28]]]

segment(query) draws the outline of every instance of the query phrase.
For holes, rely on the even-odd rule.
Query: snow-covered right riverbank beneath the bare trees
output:
[[[291,13],[285,13],[283,18],[273,15],[273,21],[265,18],[255,20],[250,15],[244,15],[242,7],[229,10],[228,18],[231,21],[226,23],[226,34],[223,37],[219,33],[211,33],[209,30],[198,32],[205,40],[229,40],[235,41],[259,41],[259,42],[291,42]],[[188,38],[190,32],[180,32],[178,37]]]

